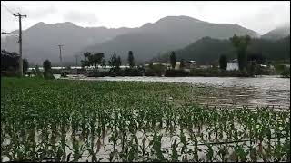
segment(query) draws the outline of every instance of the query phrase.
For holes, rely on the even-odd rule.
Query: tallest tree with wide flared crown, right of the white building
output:
[[[240,71],[246,69],[246,48],[249,45],[250,40],[251,38],[249,35],[236,36],[235,34],[232,38],[230,38],[231,43],[233,43],[236,48],[238,67]]]

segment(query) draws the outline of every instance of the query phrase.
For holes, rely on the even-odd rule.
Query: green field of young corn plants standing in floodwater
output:
[[[290,110],[208,108],[211,87],[1,79],[2,161],[290,161]]]

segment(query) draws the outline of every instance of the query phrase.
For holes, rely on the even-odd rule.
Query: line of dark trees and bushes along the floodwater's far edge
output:
[[[246,53],[247,48],[250,44],[251,38],[248,35],[245,36],[236,36],[236,34],[231,37],[230,42],[234,49],[236,50],[236,56],[238,60],[238,68],[240,72],[248,72],[250,74],[253,74],[256,72],[256,70],[259,69],[256,65],[258,64],[263,64],[266,62],[266,57],[262,55],[262,53]],[[82,67],[83,69],[85,66],[94,66],[94,73],[98,73],[98,66],[105,67],[106,66],[106,61],[105,61],[105,54],[104,53],[90,53],[86,52],[83,53],[84,55],[84,60],[82,60]],[[17,53],[9,53],[5,50],[2,50],[1,52],[1,72],[7,73],[7,72],[16,72],[17,67],[18,67],[18,59],[19,55]],[[149,69],[143,67],[143,66],[135,66],[135,57],[134,53],[132,51],[128,52],[128,57],[127,57],[127,62],[129,65],[129,68],[126,68],[124,72],[121,72],[120,66],[122,65],[122,61],[120,56],[116,55],[113,53],[113,55],[110,57],[110,59],[107,61],[107,65],[109,65],[110,74],[113,75],[121,75],[123,74],[130,74],[130,75],[136,75],[140,76],[144,73],[146,75],[161,75],[163,70],[165,71],[164,66],[162,65],[156,65],[154,66],[153,63],[149,64]],[[176,70],[176,53],[172,51],[169,55],[169,62],[170,62],[170,67],[172,69],[168,69],[166,67],[166,72],[165,74],[171,75],[187,75],[187,73],[184,71],[185,67],[185,61],[183,58],[180,59],[180,67],[179,70]],[[227,68],[227,62],[228,58],[226,54],[220,55],[218,59],[219,63],[219,68],[222,71],[226,71]],[[24,67],[24,72],[28,73],[28,66],[29,63],[27,59],[23,60],[23,67]],[[52,70],[51,70],[51,62],[49,60],[45,60],[43,63],[44,67],[44,77],[45,78],[52,78]],[[36,74],[39,74],[39,69],[38,66],[35,67],[34,73],[36,71]],[[197,72],[197,71],[194,71]],[[216,72],[216,71],[213,71]],[[195,74],[202,74],[203,72],[197,72]],[[257,72],[257,73],[262,73],[262,72]],[[194,74],[194,75],[195,75]],[[99,74],[98,74],[99,75]],[[108,75],[108,74],[106,74]],[[225,75],[225,74],[223,74]]]

